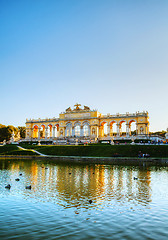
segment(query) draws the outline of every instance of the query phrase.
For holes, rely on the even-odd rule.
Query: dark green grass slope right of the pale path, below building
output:
[[[22,146],[55,156],[138,157],[141,151],[150,154],[150,157],[168,158],[168,145]]]

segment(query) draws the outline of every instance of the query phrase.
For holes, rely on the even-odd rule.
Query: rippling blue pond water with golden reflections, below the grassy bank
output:
[[[0,160],[0,239],[167,240],[168,168]]]

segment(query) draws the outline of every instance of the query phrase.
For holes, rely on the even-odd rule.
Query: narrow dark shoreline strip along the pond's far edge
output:
[[[40,155],[1,155],[3,159],[27,159],[27,160],[53,160],[62,163],[86,163],[86,164],[113,164],[135,166],[168,166],[168,158],[136,158],[136,157],[86,157],[86,156],[40,156]]]

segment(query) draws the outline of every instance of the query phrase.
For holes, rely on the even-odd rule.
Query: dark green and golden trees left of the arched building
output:
[[[0,124],[0,142],[4,140],[9,141],[12,133],[14,132],[15,137],[17,137],[18,133],[20,133],[20,138],[25,138],[26,128],[25,127],[14,127],[12,125],[2,125]]]

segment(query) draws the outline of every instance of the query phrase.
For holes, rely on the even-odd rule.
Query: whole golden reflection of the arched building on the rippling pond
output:
[[[115,200],[146,205],[151,201],[149,170],[99,164],[45,164],[30,160],[10,162],[8,168],[11,173],[24,172],[24,182],[32,184],[30,194],[65,207],[87,207],[90,199],[97,204]],[[134,176],[138,180],[134,180]]]

